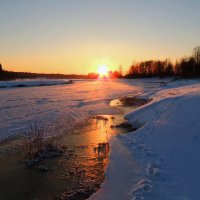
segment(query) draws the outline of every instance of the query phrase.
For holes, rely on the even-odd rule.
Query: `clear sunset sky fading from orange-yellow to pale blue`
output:
[[[199,0],[0,0],[0,63],[77,73],[175,59],[200,45]]]

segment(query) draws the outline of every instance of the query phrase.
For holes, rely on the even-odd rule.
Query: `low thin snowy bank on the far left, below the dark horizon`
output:
[[[66,79],[19,79],[15,81],[0,81],[0,88],[64,85],[69,83],[72,82]]]

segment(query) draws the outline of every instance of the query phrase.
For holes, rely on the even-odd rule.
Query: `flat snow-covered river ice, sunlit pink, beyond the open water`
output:
[[[88,116],[119,113],[109,106],[111,99],[154,86],[142,80],[115,80],[0,89],[0,137],[23,133],[30,123],[56,126],[62,133]]]

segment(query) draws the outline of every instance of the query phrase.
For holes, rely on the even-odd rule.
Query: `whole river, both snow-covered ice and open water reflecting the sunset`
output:
[[[34,80],[34,86],[37,81]],[[124,122],[124,114],[135,108],[120,106],[116,98],[141,95],[160,86],[159,81],[153,79],[79,80],[45,87],[30,87],[27,81],[12,82],[15,84],[23,87],[0,89],[2,138],[22,134],[32,123],[44,127],[50,135],[71,134],[57,137],[56,142],[67,147],[61,157],[41,160],[32,170],[24,167],[23,154],[18,151],[13,154],[9,149],[12,144],[14,152],[18,149],[19,146],[14,146],[19,142],[18,137],[9,140],[10,143],[2,143],[0,199],[68,199],[70,196],[69,199],[86,199],[98,191],[108,166],[110,138],[129,130],[116,127]],[[41,174],[38,170],[41,166],[51,170]],[[12,193],[10,188],[13,188]]]

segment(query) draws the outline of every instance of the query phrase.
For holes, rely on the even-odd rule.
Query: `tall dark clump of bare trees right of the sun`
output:
[[[148,60],[130,66],[125,78],[142,77],[200,77],[200,64],[193,57],[181,58],[174,64],[169,60]]]

